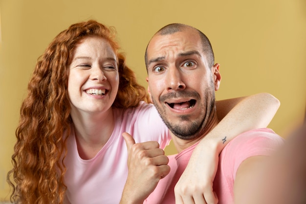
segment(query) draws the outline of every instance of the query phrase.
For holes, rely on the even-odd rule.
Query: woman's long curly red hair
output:
[[[58,34],[39,58],[28,84],[17,142],[12,156],[13,169],[7,181],[12,186],[15,204],[63,204],[66,191],[65,138],[70,133],[70,104],[67,93],[68,65],[73,51],[87,36],[107,41],[118,57],[119,90],[112,105],[115,108],[136,107],[150,102],[144,87],[136,82],[133,71],[118,53],[115,31],[96,21],[76,23]]]

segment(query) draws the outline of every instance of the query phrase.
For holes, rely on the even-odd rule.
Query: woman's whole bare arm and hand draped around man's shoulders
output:
[[[280,102],[269,93],[216,102],[219,124],[195,148],[187,168],[175,186],[175,202],[190,197],[195,203],[218,203],[213,192],[219,154],[224,146],[242,132],[266,127]],[[204,202],[204,203],[205,203]]]

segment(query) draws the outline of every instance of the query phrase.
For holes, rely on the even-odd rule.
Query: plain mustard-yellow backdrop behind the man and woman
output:
[[[303,121],[305,0],[0,0],[0,200],[7,199],[19,109],[36,60],[60,31],[89,19],[117,29],[144,86],[153,33],[168,23],[193,25],[209,37],[220,64],[217,99],[273,94],[281,107],[269,127],[281,136]]]

